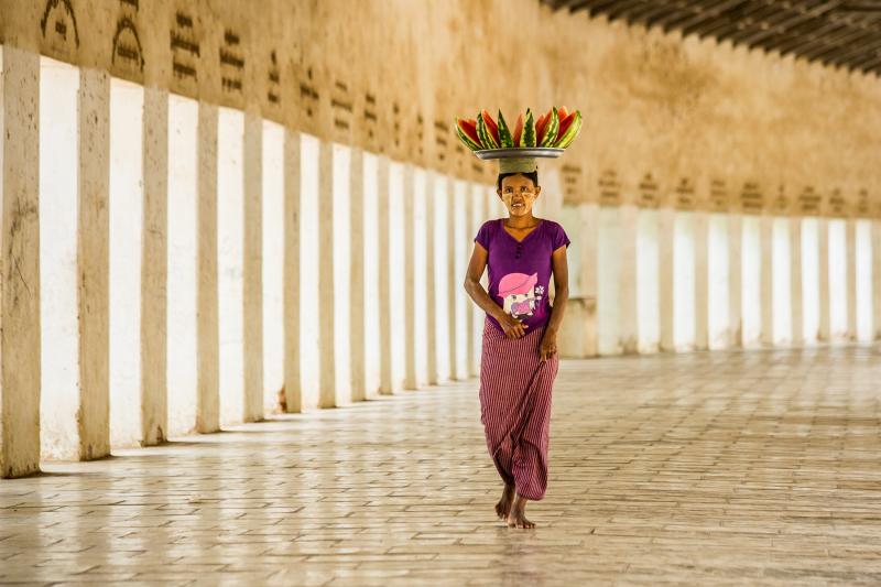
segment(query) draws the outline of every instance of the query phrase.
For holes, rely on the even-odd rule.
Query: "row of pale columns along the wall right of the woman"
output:
[[[781,339],[800,346],[806,340],[835,339],[834,312],[846,313],[844,338],[856,340],[858,329],[866,326],[858,323],[858,292],[871,296],[872,337],[881,339],[881,221],[878,219],[838,221],[845,231],[845,238],[839,239],[844,242],[845,262],[839,267],[835,262],[838,257],[830,256],[830,243],[837,242],[829,237],[835,220],[824,217],[749,217],[667,207],[643,210],[633,205],[583,204],[574,218],[580,236],[578,289],[584,297],[596,301],[597,325],[576,339],[584,344],[583,349],[574,352],[576,356],[738,348],[753,341],[772,346]],[[757,235],[744,235],[744,222],[750,218],[752,225],[758,224]],[[806,221],[816,222],[816,250],[804,250]],[[683,233],[678,229],[682,227],[677,227],[679,222],[688,225],[689,242],[679,240]],[[859,224],[868,227],[869,233],[858,241]],[[787,232],[784,246],[775,238],[777,230]],[[725,242],[718,241],[720,236]],[[758,240],[758,247],[753,247],[755,242],[749,241],[750,238]],[[726,251],[727,259],[710,259],[714,250]],[[812,261],[817,271],[816,292],[805,292],[803,268]],[[649,273],[656,275],[652,283],[640,279],[640,268],[646,263],[651,265]],[[871,274],[869,284],[858,285],[858,264],[860,271]],[[758,287],[758,305],[743,298],[744,286]],[[845,293],[834,306],[830,292],[836,286]],[[646,294],[646,287],[656,291]],[[779,303],[781,287],[785,304]],[[816,336],[804,333],[808,294],[816,295]],[[711,339],[711,326],[716,326],[713,323],[719,319],[714,304],[720,297],[727,297],[728,315],[722,341]],[[655,307],[646,316],[646,306],[652,305]],[[746,312],[754,312],[758,319],[749,322],[760,325],[754,340],[743,331]],[[655,330],[646,335],[646,329],[652,328]],[[693,331],[687,343],[677,336],[682,328]],[[645,346],[646,337],[655,340],[653,347]]]

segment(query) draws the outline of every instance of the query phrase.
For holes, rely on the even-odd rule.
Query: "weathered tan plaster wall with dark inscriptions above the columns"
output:
[[[453,117],[565,104],[569,203],[881,216],[881,81],[536,0],[0,0],[0,41],[459,176]],[[512,118],[512,117],[509,117]]]

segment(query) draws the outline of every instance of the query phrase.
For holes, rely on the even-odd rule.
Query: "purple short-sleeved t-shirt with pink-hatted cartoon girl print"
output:
[[[547,300],[551,283],[551,256],[561,247],[569,246],[563,227],[553,220],[542,220],[535,229],[518,241],[508,233],[504,219],[487,220],[475,237],[475,242],[488,253],[489,296],[505,314],[529,325],[526,331],[544,326],[551,316]],[[499,322],[489,319],[500,330]]]

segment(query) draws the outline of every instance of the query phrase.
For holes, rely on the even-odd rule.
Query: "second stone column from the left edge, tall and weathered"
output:
[[[110,454],[110,77],[79,70],[79,458]]]

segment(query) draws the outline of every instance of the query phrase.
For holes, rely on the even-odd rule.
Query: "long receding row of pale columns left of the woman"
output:
[[[34,164],[41,154],[40,56],[14,47],[0,51],[0,477],[18,477],[39,470],[41,458],[40,241],[53,236],[40,233],[40,170]],[[124,151],[124,145],[111,145],[111,80],[89,69],[77,75],[77,185],[72,192],[78,194],[78,225],[70,263],[76,272],[77,396],[68,414],[76,428],[63,433],[76,438],[62,439],[69,446],[62,455],[91,459],[108,455],[111,444],[118,444],[111,435],[117,412],[138,422],[137,433],[126,442],[152,445],[168,434],[167,292],[177,286],[168,274],[168,144],[175,138],[168,134],[168,94],[143,88],[143,118],[135,133],[141,141],[142,225],[139,247],[132,249],[140,258],[122,259],[112,244],[126,238],[126,227],[113,228],[112,210],[119,206],[113,208],[111,192],[113,182],[124,177],[113,175],[111,160],[113,148]],[[210,433],[231,423],[225,414],[225,402],[230,401],[225,389],[237,394],[233,412],[240,421],[260,420],[265,410],[264,127],[258,113],[246,111],[242,150],[227,153],[222,134],[229,130],[218,124],[221,109],[199,102],[194,113],[192,430]],[[287,411],[340,406],[377,393],[476,376],[482,315],[469,307],[461,282],[477,227],[486,215],[501,211],[498,205],[493,208],[492,192],[324,141],[318,144],[313,191],[314,178],[304,181],[303,145],[298,132],[283,129],[281,361]],[[237,182],[225,175],[225,157],[241,157],[241,185],[230,185]],[[372,176],[365,173],[369,157],[376,166]],[[339,167],[344,163],[346,173]],[[309,198],[317,199],[309,203],[317,214],[306,219],[303,204]],[[240,216],[221,214],[229,206],[238,206]],[[222,225],[230,221],[238,226]],[[237,230],[240,239],[231,244],[219,240],[222,230]],[[304,275],[307,269],[302,264],[307,233],[317,236],[317,259],[309,265],[314,275]],[[222,267],[225,248],[240,254],[241,290],[233,294],[224,290],[222,273],[236,270]],[[171,250],[172,256],[181,252]],[[126,348],[110,345],[112,323],[121,319],[111,311],[113,268],[123,268],[120,271],[132,278],[126,285],[132,294],[126,309],[131,312],[124,317],[137,320],[140,334]],[[221,312],[224,296],[240,303],[239,316]],[[304,320],[316,316],[317,349],[303,348]],[[240,328],[240,356],[225,348],[222,324]],[[369,343],[372,324],[374,345]],[[307,351],[317,365],[304,365]],[[111,405],[113,378],[119,377],[111,373],[112,352],[126,356],[123,376],[137,376],[131,384],[137,385],[138,405]],[[315,389],[303,384],[306,369],[317,372]],[[373,371],[378,377],[370,377]],[[239,377],[241,381],[230,381]]]

